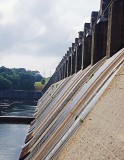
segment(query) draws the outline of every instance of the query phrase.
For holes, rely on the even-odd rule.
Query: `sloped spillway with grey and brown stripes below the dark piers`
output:
[[[55,159],[123,63],[124,49],[51,85],[38,102],[20,160]]]

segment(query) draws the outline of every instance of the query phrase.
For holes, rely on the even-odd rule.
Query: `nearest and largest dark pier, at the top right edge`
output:
[[[124,0],[113,0],[109,7],[107,57],[124,47]]]

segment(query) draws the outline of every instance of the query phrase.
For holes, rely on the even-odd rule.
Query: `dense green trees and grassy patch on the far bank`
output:
[[[48,78],[44,78],[38,71],[25,68],[0,67],[0,90],[38,90],[45,86]],[[42,86],[37,89],[37,86]]]

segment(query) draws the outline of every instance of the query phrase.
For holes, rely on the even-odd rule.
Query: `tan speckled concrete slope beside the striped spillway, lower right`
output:
[[[124,160],[124,65],[57,160]]]

